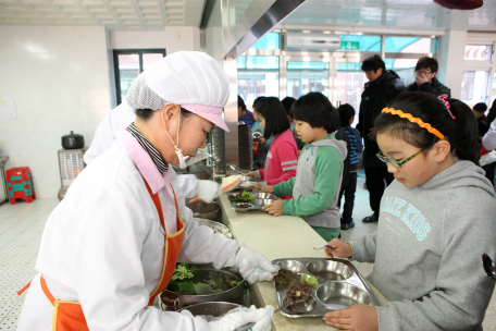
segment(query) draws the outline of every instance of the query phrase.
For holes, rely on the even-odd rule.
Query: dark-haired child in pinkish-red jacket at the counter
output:
[[[263,128],[263,137],[274,137],[265,159],[264,169],[249,172],[247,175],[258,183],[258,188],[265,185],[275,185],[289,181],[296,175],[298,149],[293,134],[289,131],[289,120],[286,117],[283,103],[275,97],[266,97],[257,107],[257,119]],[[292,194],[278,195],[283,199],[290,199]]]

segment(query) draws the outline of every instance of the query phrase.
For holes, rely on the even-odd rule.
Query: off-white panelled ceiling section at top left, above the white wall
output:
[[[206,0],[0,0],[1,25],[104,25],[111,30],[199,26]]]

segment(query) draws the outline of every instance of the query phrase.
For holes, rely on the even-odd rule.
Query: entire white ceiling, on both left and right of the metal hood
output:
[[[231,0],[236,21],[252,1]],[[204,2],[0,0],[0,25],[104,25],[111,30],[163,30],[164,26],[199,26]],[[484,2],[474,11],[450,11],[432,0],[307,0],[284,25],[496,32],[496,1]]]

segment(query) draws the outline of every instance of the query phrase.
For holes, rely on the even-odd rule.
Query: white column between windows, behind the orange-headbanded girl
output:
[[[437,62],[439,70],[437,78],[451,89],[451,97],[461,96],[461,79],[463,77],[463,58],[467,44],[467,30],[448,30],[441,37]]]

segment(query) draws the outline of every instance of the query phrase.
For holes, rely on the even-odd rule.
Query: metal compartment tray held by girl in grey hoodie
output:
[[[275,259],[273,265],[301,275],[314,275],[319,287],[310,297],[296,305],[298,312],[288,308],[281,314],[289,318],[322,317],[328,311],[347,308],[356,304],[379,306],[379,302],[363,277],[355,266],[339,258],[284,258]],[[312,273],[313,272],[313,273]],[[321,278],[324,275],[326,279]],[[287,289],[274,283],[277,308],[284,306]]]

